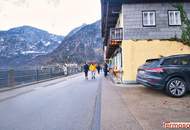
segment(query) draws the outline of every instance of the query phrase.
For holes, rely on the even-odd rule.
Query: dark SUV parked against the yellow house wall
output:
[[[190,54],[149,59],[139,67],[137,82],[182,97],[190,90]]]

